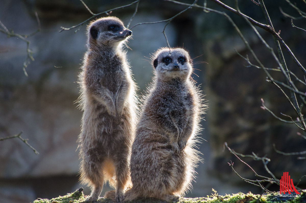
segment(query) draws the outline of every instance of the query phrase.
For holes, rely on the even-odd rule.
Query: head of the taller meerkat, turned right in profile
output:
[[[88,25],[88,48],[117,47],[132,31],[117,17],[102,17]]]

